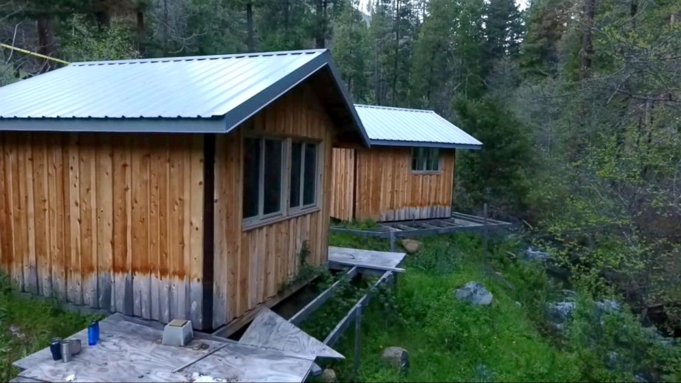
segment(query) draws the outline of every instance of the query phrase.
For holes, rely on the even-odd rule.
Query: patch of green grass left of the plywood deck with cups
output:
[[[16,297],[0,275],[0,382],[19,372],[12,362],[47,347],[51,338],[84,329],[92,318],[62,310],[55,302]]]

